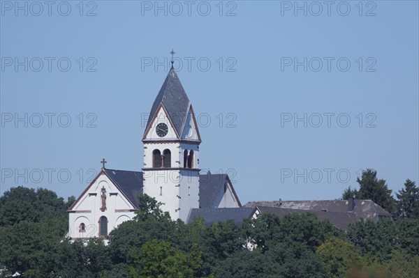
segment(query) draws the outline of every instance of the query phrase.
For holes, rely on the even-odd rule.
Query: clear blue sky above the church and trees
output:
[[[366,168],[418,182],[418,1],[0,3],[0,194],[140,171],[171,49],[200,167],[242,203],[339,198]]]

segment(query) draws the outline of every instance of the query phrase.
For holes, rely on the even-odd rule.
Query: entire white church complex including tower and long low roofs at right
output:
[[[345,231],[359,219],[391,217],[371,200],[251,201],[242,206],[228,175],[200,174],[198,125],[173,66],[154,100],[142,143],[142,171],[107,169],[102,160],[100,173],[68,209],[68,237],[107,238],[112,229],[133,219],[143,193],[163,203],[161,209],[173,220],[186,224],[195,217],[203,217],[207,225],[229,219],[240,224],[261,213],[284,217],[308,212]]]

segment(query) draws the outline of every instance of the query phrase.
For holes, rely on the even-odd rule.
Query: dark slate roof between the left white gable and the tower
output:
[[[138,209],[138,195],[142,193],[142,172],[104,169],[106,176]]]

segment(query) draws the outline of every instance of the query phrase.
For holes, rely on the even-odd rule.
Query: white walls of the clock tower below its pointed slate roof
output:
[[[165,123],[168,126],[168,132],[164,137],[159,137],[156,133],[156,126],[159,123]],[[144,136],[144,168],[142,169],[143,192],[163,203],[162,209],[168,211],[173,220],[184,221],[191,208],[199,208],[200,141],[198,141],[198,129],[191,109],[186,117],[185,126],[183,133],[186,138],[182,140],[179,139],[173,127],[172,119],[168,117],[161,105]],[[159,162],[161,167],[156,167],[154,153],[159,151],[161,155],[164,155],[167,150],[170,150],[170,166],[165,167],[163,162]],[[193,154],[191,168],[187,165],[185,152],[187,155]]]

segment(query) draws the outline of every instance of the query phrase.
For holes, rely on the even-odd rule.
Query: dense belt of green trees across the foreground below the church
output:
[[[242,225],[206,226],[197,218],[186,225],[142,195],[141,210],[114,229],[105,245],[98,238],[64,238],[73,199],[65,203],[49,190],[17,187],[0,203],[0,266],[6,268],[0,277],[15,272],[31,278],[419,275],[419,219],[414,217],[360,220],[347,233],[310,213],[263,214]]]

